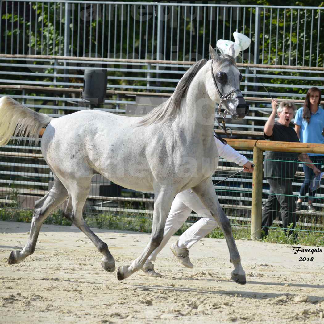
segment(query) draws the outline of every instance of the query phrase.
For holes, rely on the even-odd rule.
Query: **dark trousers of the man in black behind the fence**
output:
[[[270,184],[270,194],[262,209],[262,230],[264,235],[268,235],[269,228],[273,221],[281,213],[281,220],[283,222],[284,231],[287,234],[287,227],[293,224],[295,228],[299,216],[296,215],[295,197],[293,197],[293,179],[267,179]],[[292,234],[292,230],[288,235]],[[297,237],[297,235],[294,235]]]

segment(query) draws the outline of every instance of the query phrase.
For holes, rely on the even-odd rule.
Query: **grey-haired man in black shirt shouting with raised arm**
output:
[[[289,101],[282,101],[278,106],[277,100],[272,100],[272,113],[264,125],[263,135],[266,140],[299,142],[295,130],[290,127],[296,106]],[[274,121],[278,113],[278,120]],[[264,160],[264,177],[270,184],[270,194],[262,209],[262,237],[268,235],[269,226],[276,219],[280,207],[284,231],[293,224],[295,228],[298,221],[296,203],[293,197],[292,183],[298,167],[298,160],[305,162],[317,175],[320,171],[312,163],[306,153],[266,152]],[[288,235],[291,235],[292,230]],[[297,237],[297,235],[294,235]]]

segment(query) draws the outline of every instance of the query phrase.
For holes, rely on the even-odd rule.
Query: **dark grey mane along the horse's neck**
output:
[[[186,94],[191,81],[196,76],[198,71],[207,63],[207,60],[202,59],[191,66],[191,68],[182,76],[172,96],[161,105],[154,108],[148,113],[144,119],[139,121],[140,125],[150,125],[154,122],[163,122],[173,120],[179,113],[181,99]]]

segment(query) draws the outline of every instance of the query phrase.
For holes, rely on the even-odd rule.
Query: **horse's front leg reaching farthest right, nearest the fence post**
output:
[[[210,178],[201,182],[198,186],[192,188],[192,190],[199,196],[205,207],[210,210],[216,222],[224,232],[227,247],[229,249],[230,262],[233,263],[235,268],[232,271],[232,279],[238,284],[246,284],[245,272],[242,268],[241,258],[234,241],[232,227],[218,202],[212,179]]]

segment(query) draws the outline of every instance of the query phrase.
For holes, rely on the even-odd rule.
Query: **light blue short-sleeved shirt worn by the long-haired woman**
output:
[[[300,126],[300,142],[324,144],[324,136],[322,136],[322,132],[324,129],[324,110],[318,107],[317,112],[311,115],[309,123],[307,123],[307,121],[303,119],[303,110],[304,107],[299,108],[295,115],[295,124]]]

